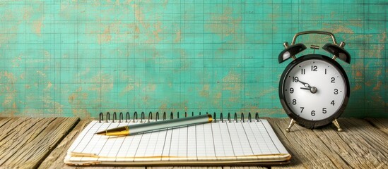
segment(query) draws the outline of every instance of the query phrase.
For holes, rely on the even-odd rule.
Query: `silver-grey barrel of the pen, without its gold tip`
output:
[[[152,123],[142,123],[138,125],[129,125],[129,134],[139,132],[148,132],[152,130],[160,130],[168,127],[179,127],[183,125],[193,125],[199,123],[209,123],[213,120],[210,114],[196,115],[187,118],[176,118],[172,120],[161,120]]]

